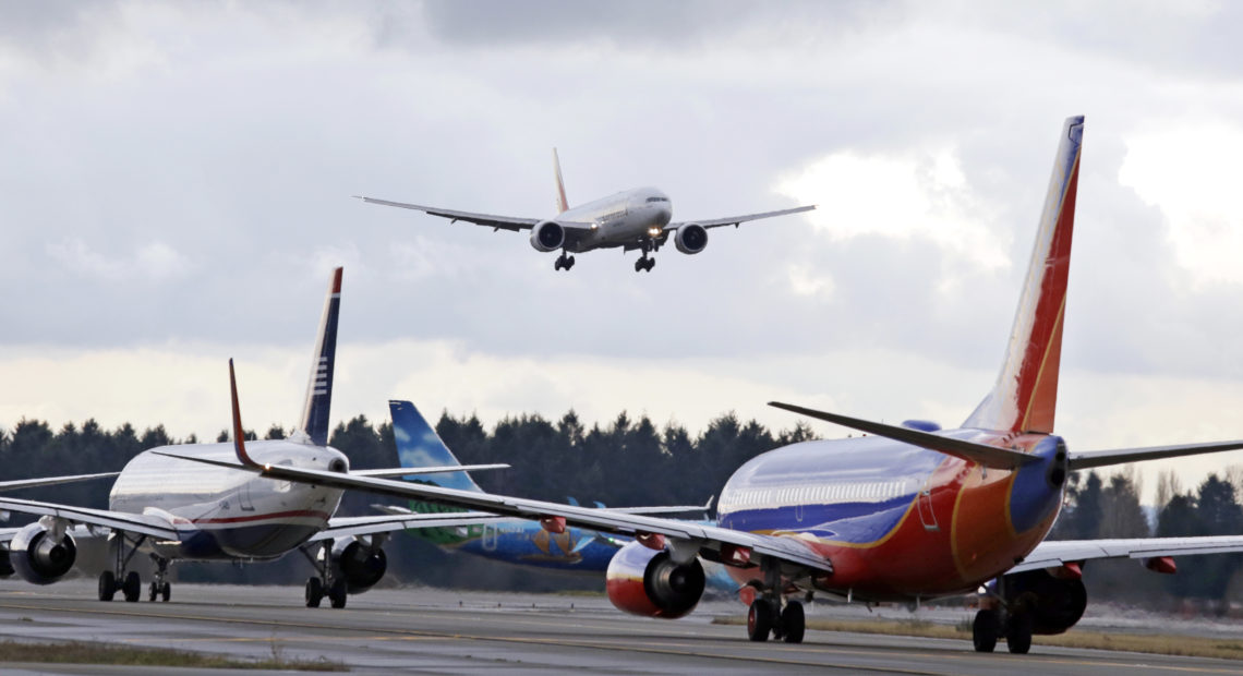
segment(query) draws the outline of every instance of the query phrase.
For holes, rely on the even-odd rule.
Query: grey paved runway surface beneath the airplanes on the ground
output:
[[[1238,674],[1239,662],[1035,645],[979,655],[967,641],[808,630],[805,642],[755,644],[738,614],[706,604],[690,619],[631,618],[602,596],[379,589],[349,606],[308,609],[297,587],[179,584],[173,601],[94,600],[94,583],[0,582],[9,640],[89,640],[234,656],[324,659],[353,671],[405,674]],[[809,611],[814,616],[815,609]],[[999,646],[1001,647],[1001,646]],[[0,665],[2,669],[4,665]],[[57,672],[56,665],[48,665]],[[63,672],[71,672],[67,667]],[[76,671],[81,672],[81,671]]]

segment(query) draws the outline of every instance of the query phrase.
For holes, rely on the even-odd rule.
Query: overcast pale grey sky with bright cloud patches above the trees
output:
[[[6,2],[0,425],[784,399],[961,422],[991,388],[1062,121],[1085,114],[1058,431],[1243,437],[1243,17],[1219,2]],[[351,195],[551,216],[640,185],[712,230],[651,273]],[[817,422],[819,434],[845,430]],[[1243,462],[1176,464],[1185,486]],[[1175,466],[1171,464],[1171,466]],[[1151,492],[1162,464],[1144,466]]]

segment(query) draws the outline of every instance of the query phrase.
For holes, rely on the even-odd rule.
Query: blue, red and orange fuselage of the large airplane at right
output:
[[[740,467],[721,493],[718,523],[804,539],[833,562],[832,574],[810,583],[819,592],[858,600],[972,592],[1053,527],[1064,481],[1050,472],[1065,446],[1052,435],[943,434],[1042,461],[986,470],[879,436],[807,441]],[[728,570],[740,583],[759,577],[756,568]]]

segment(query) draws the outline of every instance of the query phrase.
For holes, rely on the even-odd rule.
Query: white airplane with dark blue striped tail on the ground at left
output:
[[[349,471],[344,454],[328,446],[328,409],[337,345],[337,317],[341,308],[338,267],[328,287],[311,378],[298,430],[280,441],[250,444],[254,457],[277,466],[313,468],[339,476],[408,476],[436,467],[410,470]],[[230,385],[232,385],[230,362]],[[232,434],[242,439],[240,419]],[[157,565],[150,582],[150,600],[169,600],[168,568],[175,560],[252,562],[276,559],[302,549],[317,568],[307,580],[306,601],[317,606],[324,595],[333,608],[346,605],[347,594],[360,594],[384,575],[387,533],[415,524],[454,526],[496,517],[480,513],[406,514],[382,517],[333,517],[342,491],[326,486],[292,483],[255,477],[199,462],[169,457],[174,451],[186,459],[227,459],[230,444],[160,446],[143,451],[117,475],[108,496],[108,509],[92,509],[32,500],[0,497],[0,509],[36,514],[39,521],[12,529],[7,557],[22,579],[51,584],[72,568],[77,555],[73,533],[109,533],[113,565],[99,575],[99,600],[109,601],[121,592],[137,601],[142,580],[129,563],[140,549]],[[484,465],[497,468],[506,465]],[[444,471],[444,467],[439,468]],[[56,482],[58,480],[29,480]],[[85,528],[83,528],[85,527]],[[311,550],[317,549],[317,554]]]

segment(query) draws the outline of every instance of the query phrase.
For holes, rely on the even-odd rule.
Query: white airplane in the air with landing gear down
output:
[[[670,236],[674,237],[674,246],[682,254],[699,254],[707,246],[707,231],[712,227],[726,225],[737,227],[747,221],[786,216],[815,209],[814,205],[798,206],[743,216],[670,222],[674,215],[672,203],[669,201],[669,195],[655,188],[625,190],[572,209],[566,200],[566,185],[561,179],[561,160],[557,158],[556,148],[552,150],[552,163],[553,175],[557,180],[557,215],[551,219],[495,216],[491,214],[476,214],[472,211],[380,200],[362,195],[354,196],[369,204],[414,209],[431,216],[450,219],[450,222],[465,221],[491,227],[493,231],[511,230],[518,232],[530,230],[531,246],[536,251],[542,252],[559,250],[561,256],[553,263],[553,267],[566,271],[574,267],[574,254],[583,254],[595,249],[620,247],[622,251],[641,251],[643,256],[634,262],[634,271],[650,272],[656,265],[656,258],[649,255],[659,251],[669,241]]]

